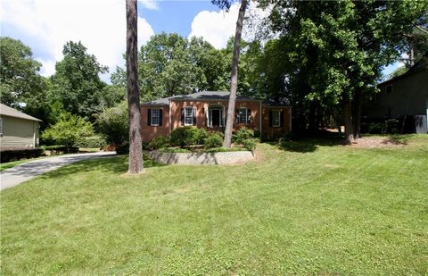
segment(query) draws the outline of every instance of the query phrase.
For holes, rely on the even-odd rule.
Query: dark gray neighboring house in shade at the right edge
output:
[[[380,92],[363,106],[362,115],[371,119],[412,121],[414,131],[428,130],[428,57],[412,66],[405,74],[377,86]]]

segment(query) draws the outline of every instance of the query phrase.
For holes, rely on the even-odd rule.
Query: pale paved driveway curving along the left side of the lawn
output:
[[[20,185],[22,182],[31,180],[37,175],[47,171],[56,170],[69,163],[75,163],[95,157],[113,156],[116,152],[97,152],[90,154],[60,155],[47,157],[40,160],[29,161],[11,169],[0,172],[0,190]]]

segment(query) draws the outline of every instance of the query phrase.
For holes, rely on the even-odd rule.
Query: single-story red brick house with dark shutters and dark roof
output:
[[[224,131],[229,92],[203,91],[170,96],[141,105],[143,142],[169,136],[182,126]],[[258,130],[267,137],[280,137],[292,130],[291,108],[272,100],[237,96],[234,130]]]

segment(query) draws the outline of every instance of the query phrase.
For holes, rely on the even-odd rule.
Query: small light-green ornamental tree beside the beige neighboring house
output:
[[[89,121],[78,115],[62,113],[59,121],[42,133],[42,138],[53,140],[70,149],[79,138],[94,135],[94,128]]]

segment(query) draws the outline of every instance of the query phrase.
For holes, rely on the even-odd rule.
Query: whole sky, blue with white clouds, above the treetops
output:
[[[222,48],[235,34],[238,9],[234,4],[225,13],[210,0],[138,0],[138,44],[165,31],[185,38],[203,37]],[[256,10],[255,14],[260,13]],[[0,0],[0,19],[1,36],[30,46],[34,58],[43,65],[42,75],[54,73],[55,63],[62,60],[62,47],[69,40],[81,41],[110,73],[124,65],[124,0]],[[387,67],[385,73],[397,66]],[[109,82],[110,73],[102,78]]]

